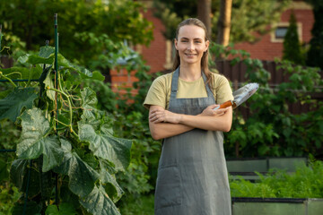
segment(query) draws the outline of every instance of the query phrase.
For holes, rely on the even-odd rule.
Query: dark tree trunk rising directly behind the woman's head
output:
[[[211,0],[197,1],[197,18],[205,24],[208,38],[211,38]]]

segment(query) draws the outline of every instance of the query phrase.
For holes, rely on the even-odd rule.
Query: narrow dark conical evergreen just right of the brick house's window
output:
[[[304,64],[304,57],[301,53],[299,34],[294,13],[291,13],[289,26],[284,37],[283,59],[295,64]]]

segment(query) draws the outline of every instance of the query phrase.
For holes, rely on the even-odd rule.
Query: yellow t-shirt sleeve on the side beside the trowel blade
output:
[[[216,103],[222,104],[225,101],[233,100],[232,90],[229,81],[220,75],[216,86]]]

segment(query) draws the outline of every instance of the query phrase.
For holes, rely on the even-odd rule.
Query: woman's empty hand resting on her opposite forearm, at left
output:
[[[158,108],[150,112],[149,121],[151,123],[172,123],[179,124],[180,115],[168,110]]]

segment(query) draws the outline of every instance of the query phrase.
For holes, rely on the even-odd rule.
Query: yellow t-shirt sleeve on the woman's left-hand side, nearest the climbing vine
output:
[[[166,77],[164,75],[156,78],[150,89],[148,90],[147,96],[144,99],[144,107],[149,108],[152,105],[166,108],[167,99],[167,86]]]

